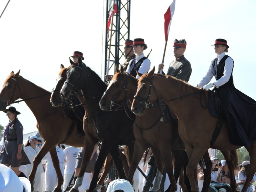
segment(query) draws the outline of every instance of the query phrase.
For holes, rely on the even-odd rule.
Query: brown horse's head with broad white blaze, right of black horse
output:
[[[123,66],[120,67],[120,71],[116,66],[116,74],[112,77],[106,91],[100,99],[100,109],[108,111],[112,110],[112,107],[119,102],[127,99],[127,83],[128,74],[124,71]]]

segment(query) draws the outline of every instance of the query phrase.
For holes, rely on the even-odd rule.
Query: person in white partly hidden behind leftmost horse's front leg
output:
[[[64,176],[64,163],[65,163],[65,156],[64,152],[61,147],[56,145],[57,155],[59,159],[59,167],[61,169],[62,176]],[[52,164],[52,158],[50,152],[48,152],[43,161],[46,161],[45,165],[45,191],[53,191],[55,186],[57,185],[57,174]],[[61,186],[63,190],[63,185]]]

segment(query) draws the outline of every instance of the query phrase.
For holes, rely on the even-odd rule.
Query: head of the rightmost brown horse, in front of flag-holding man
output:
[[[137,92],[134,96],[131,108],[134,114],[143,115],[145,107],[148,108],[150,105],[149,99],[157,100],[157,96],[154,94],[155,92],[152,91],[154,71],[155,67],[149,73],[144,75],[137,72],[140,79],[138,81]]]

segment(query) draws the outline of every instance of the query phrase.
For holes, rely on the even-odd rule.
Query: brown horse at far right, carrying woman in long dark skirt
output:
[[[187,175],[190,179],[192,191],[198,191],[198,186],[193,177],[193,172],[197,162],[200,160],[209,147],[222,151],[236,150],[241,146],[232,145],[229,141],[227,123],[224,122],[221,132],[215,143],[210,145],[210,141],[218,121],[213,117],[206,107],[208,103],[208,91],[204,91],[189,85],[187,82],[177,78],[164,75],[154,75],[154,68],[145,75],[140,75],[137,93],[134,96],[132,110],[135,114],[144,113],[144,105],[158,105],[157,99],[161,98],[173,110],[179,120],[178,132],[185,142],[185,149],[190,159],[187,166]],[[206,97],[205,99],[203,99]],[[250,155],[250,168],[242,192],[248,188],[255,173],[256,164],[256,142],[252,146],[246,147]],[[226,158],[226,157],[225,157]],[[230,170],[235,168],[231,159],[226,158]],[[234,172],[230,171],[232,190],[235,191],[236,183]]]

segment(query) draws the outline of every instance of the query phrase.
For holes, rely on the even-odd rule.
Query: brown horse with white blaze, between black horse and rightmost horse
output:
[[[120,71],[116,68],[116,74],[111,79],[109,86],[107,87],[104,95],[100,100],[100,108],[102,110],[110,110],[113,107],[113,103],[119,105],[119,103],[125,102],[127,99],[130,102],[133,101],[133,96],[137,91],[137,79],[129,73],[126,73],[121,66]],[[115,109],[112,109],[115,110]],[[181,164],[183,160],[183,151],[175,151],[175,179],[173,177],[173,162],[172,162],[172,135],[173,124],[177,122],[169,117],[168,121],[163,122],[163,114],[168,113],[168,106],[161,112],[160,108],[149,108],[145,110],[145,114],[142,116],[137,115],[133,124],[133,133],[136,138],[133,151],[133,159],[130,163],[129,174],[127,180],[132,182],[134,172],[137,165],[143,156],[143,152],[151,147],[154,157],[156,159],[157,169],[163,172],[163,165],[171,182],[171,191],[177,191],[176,181],[181,172]],[[177,145],[177,144],[176,144]],[[177,148],[177,147],[176,147]],[[182,148],[182,147],[180,147]],[[184,148],[184,147],[183,147]],[[185,154],[186,155],[186,154]],[[163,161],[162,161],[162,158]],[[177,157],[180,157],[178,160]],[[210,165],[211,166],[211,165]],[[183,173],[183,172],[182,172]],[[161,179],[160,179],[161,181]],[[190,191],[183,184],[180,184],[182,191]]]

